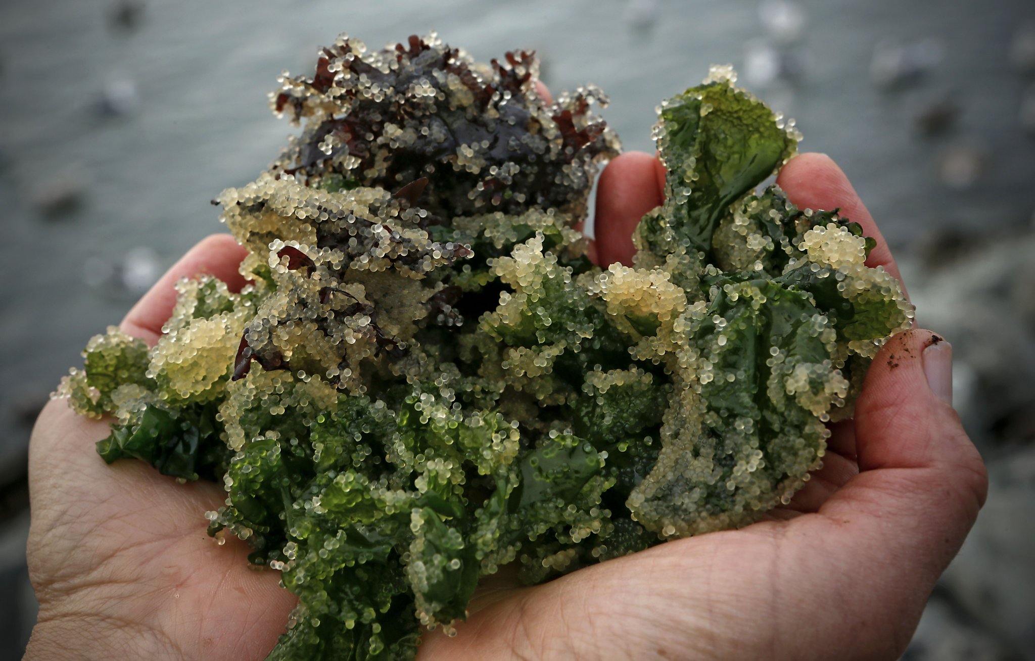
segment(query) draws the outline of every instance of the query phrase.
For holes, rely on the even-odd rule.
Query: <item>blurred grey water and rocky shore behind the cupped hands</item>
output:
[[[953,343],[993,487],[906,658],[1035,658],[1035,3],[1021,0],[5,0],[0,5],[0,659],[35,619],[32,421],[87,339],[221,230],[209,201],[290,131],[266,92],[348,31],[535,49],[592,82],[626,149],[711,63],[830,154]],[[851,598],[851,596],[846,596]]]

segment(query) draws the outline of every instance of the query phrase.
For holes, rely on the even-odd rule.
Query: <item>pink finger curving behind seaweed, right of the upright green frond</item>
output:
[[[887,241],[877,229],[859,194],[848,177],[830,156],[818,153],[798,154],[779,172],[776,183],[787,191],[791,202],[802,209],[832,211],[862,226],[863,234],[873,237],[877,245],[866,259],[866,266],[883,266],[901,282],[898,266],[891,257]]]

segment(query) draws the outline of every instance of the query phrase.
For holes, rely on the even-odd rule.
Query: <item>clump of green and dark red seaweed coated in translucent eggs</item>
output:
[[[218,199],[250,283],[181,281],[156,345],[109,329],[59,388],[113,417],[107,461],[226,486],[210,534],[299,598],[271,659],[411,658],[503,565],[757,520],[910,324],[858,224],[757,190],[798,134],[724,68],[660,109],[635,266],[592,265],[607,99],[536,82],[343,35],[271,95],[301,134]]]

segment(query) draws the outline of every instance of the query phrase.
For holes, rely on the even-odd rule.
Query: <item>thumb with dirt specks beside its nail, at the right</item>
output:
[[[928,591],[963,544],[988,484],[951,401],[948,342],[926,330],[888,340],[856,402],[859,475],[820,509],[869,529],[855,537],[878,542],[879,557],[913,572],[903,577],[908,584],[929,583]]]

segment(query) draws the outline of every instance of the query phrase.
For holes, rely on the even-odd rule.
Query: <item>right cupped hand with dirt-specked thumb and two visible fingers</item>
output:
[[[661,202],[647,154],[608,167],[600,264],[631,263],[640,216]],[[848,178],[802,154],[777,183],[799,207],[840,208],[877,240],[867,265],[898,269]],[[987,476],[952,410],[952,353],[925,330],[875,358],[854,421],[834,425],[823,468],[787,507],[737,531],[660,544],[472,603],[436,659],[896,659],[984,502]]]

